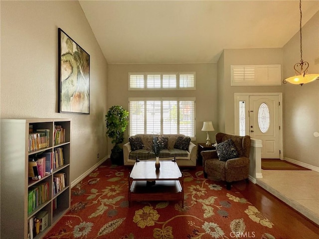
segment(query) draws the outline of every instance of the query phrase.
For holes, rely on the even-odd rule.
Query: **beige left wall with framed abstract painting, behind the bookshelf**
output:
[[[0,4],[0,117],[71,118],[73,181],[107,155],[107,62],[78,1]],[[57,113],[58,27],[90,54],[90,115]]]

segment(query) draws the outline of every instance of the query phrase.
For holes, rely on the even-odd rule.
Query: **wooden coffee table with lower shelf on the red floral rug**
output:
[[[174,160],[160,161],[159,171],[155,169],[155,161],[137,160],[128,180],[129,207],[132,201],[179,200],[184,207],[184,176]],[[147,181],[152,186],[147,186]]]

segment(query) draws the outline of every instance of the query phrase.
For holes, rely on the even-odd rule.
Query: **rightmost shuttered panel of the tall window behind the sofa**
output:
[[[179,102],[179,133],[194,137],[195,102]]]

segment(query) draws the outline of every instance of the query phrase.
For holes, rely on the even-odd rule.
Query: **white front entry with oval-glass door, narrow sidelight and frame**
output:
[[[282,158],[281,93],[235,93],[235,132],[262,140],[262,158]]]

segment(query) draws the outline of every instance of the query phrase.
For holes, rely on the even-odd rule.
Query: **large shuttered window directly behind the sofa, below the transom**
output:
[[[130,135],[181,133],[195,140],[195,98],[130,98]]]

